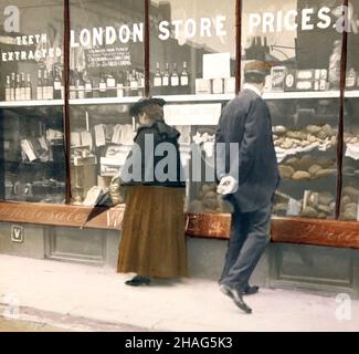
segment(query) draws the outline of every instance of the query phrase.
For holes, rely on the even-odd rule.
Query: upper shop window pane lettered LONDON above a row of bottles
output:
[[[142,96],[144,1],[71,0],[70,98]]]

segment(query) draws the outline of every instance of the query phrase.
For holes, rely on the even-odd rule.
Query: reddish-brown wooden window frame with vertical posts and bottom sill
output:
[[[241,53],[242,53],[242,8],[244,0],[235,0],[235,94],[241,91]],[[348,7],[349,0],[342,0],[342,6]],[[150,91],[150,31],[149,31],[149,11],[150,0],[144,0],[145,19],[144,19],[144,49],[145,49],[145,96]],[[17,222],[30,222],[30,223],[44,223],[56,225],[56,218],[47,220],[34,220],[32,217],[27,217],[29,208],[41,209],[42,212],[62,212],[65,218],[68,215],[68,220],[62,221],[57,225],[61,226],[82,226],[83,221],[71,219],[71,214],[76,210],[81,210],[84,216],[88,214],[92,208],[77,207],[71,205],[71,116],[70,116],[70,28],[71,28],[71,9],[70,0],[64,0],[64,101],[63,101],[63,126],[65,136],[65,165],[66,165],[66,198],[64,205],[41,205],[41,204],[27,204],[27,202],[12,202],[0,201],[0,219],[2,221],[17,221]],[[359,223],[358,221],[340,221],[340,201],[342,189],[342,159],[344,159],[344,119],[345,119],[345,98],[346,98],[346,75],[347,75],[347,53],[348,53],[348,33],[346,31],[341,34],[341,59],[340,59],[340,87],[339,87],[339,116],[338,116],[338,136],[337,136],[337,195],[336,195],[336,215],[335,220],[318,220],[308,218],[289,218],[289,217],[274,217],[272,220],[272,240],[275,242],[289,242],[289,243],[308,243],[308,244],[323,244],[332,247],[351,247],[359,248]],[[0,112],[0,116],[2,112]],[[1,149],[0,149],[1,152]],[[24,212],[21,214],[23,205]],[[18,211],[15,212],[14,209]],[[105,229],[120,229],[118,225],[106,225],[104,220],[104,209],[98,209],[98,217],[87,227],[105,228]],[[116,209],[116,208],[112,208]],[[8,211],[7,211],[8,210]],[[30,209],[29,209],[30,210]],[[117,212],[123,214],[124,210],[117,209]],[[56,215],[55,212],[55,215]],[[101,214],[103,215],[101,217]],[[30,214],[29,214],[30,215]],[[202,220],[202,226],[198,223],[199,218]],[[208,220],[213,218],[222,225],[218,230],[213,230],[209,227]],[[194,237],[211,237],[211,238],[229,238],[229,222],[230,215],[191,215],[188,214],[188,235]],[[222,222],[222,223],[221,223]],[[207,229],[205,229],[207,226]]]

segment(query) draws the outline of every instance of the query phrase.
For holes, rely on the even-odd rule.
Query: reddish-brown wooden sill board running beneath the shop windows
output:
[[[0,221],[82,227],[92,208],[68,205],[0,202]],[[124,206],[96,208],[86,228],[120,230]],[[230,214],[187,215],[187,235],[192,237],[229,239]],[[272,241],[342,248],[359,248],[359,222],[304,218],[274,218]]]

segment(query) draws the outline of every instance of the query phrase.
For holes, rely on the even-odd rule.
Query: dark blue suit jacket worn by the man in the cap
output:
[[[234,198],[242,212],[270,205],[279,174],[271,114],[262,97],[244,90],[230,101],[222,111],[215,138],[217,143],[225,143],[225,159],[218,159],[218,176],[231,175],[239,180],[236,192],[229,198]],[[237,143],[234,156],[230,143]]]

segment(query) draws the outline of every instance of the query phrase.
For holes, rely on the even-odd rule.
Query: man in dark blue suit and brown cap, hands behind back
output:
[[[218,153],[222,149],[225,157],[218,158],[218,192],[233,206],[220,284],[246,313],[252,310],[242,296],[258,291],[249,280],[270,240],[272,200],[279,181],[271,114],[262,100],[267,73],[264,62],[245,65],[243,91],[225,105],[217,131]]]

